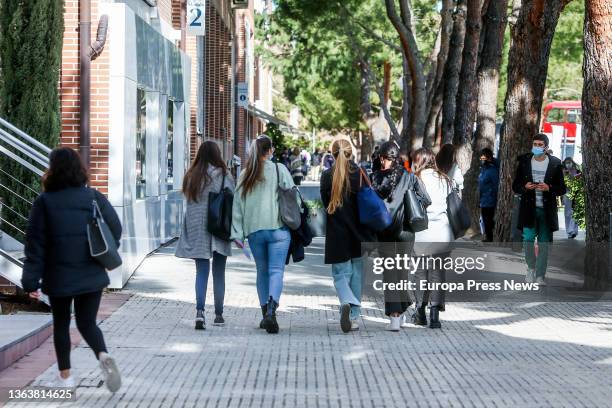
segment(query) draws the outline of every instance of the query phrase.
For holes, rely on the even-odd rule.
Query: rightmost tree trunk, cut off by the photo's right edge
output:
[[[586,190],[586,289],[610,282],[610,213],[612,212],[612,3],[586,0],[584,88],[582,92],[583,158]]]

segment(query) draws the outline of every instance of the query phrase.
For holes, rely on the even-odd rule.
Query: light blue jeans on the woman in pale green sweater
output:
[[[248,240],[257,267],[259,304],[266,305],[270,296],[279,303],[291,233],[286,227],[260,230],[249,234]]]

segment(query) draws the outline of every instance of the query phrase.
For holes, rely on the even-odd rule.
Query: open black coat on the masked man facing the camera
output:
[[[525,184],[532,182],[531,159],[533,153],[519,156],[517,159],[516,174],[512,183],[512,189],[516,194],[521,195],[519,207],[519,217],[517,228],[522,230],[524,227],[533,228],[535,225],[536,196],[535,190],[527,190]],[[545,191],[544,211],[546,212],[546,222],[551,231],[559,229],[559,219],[557,216],[557,197],[566,192],[565,181],[563,179],[563,165],[561,160],[554,156],[548,156],[549,162],[546,168],[544,182],[550,186],[550,191]]]

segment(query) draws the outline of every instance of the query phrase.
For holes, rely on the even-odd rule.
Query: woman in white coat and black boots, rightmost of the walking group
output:
[[[450,181],[448,177],[438,170],[436,156],[428,148],[421,148],[414,152],[412,158],[413,171],[421,179],[431,205],[427,207],[428,225],[427,229],[415,234],[415,252],[418,256],[446,257],[450,251],[449,243],[454,240],[446,213],[446,198],[450,193]],[[443,268],[424,268],[417,271],[417,285],[422,283],[440,284],[445,281],[446,271]],[[420,290],[417,287],[416,310],[414,323],[427,325],[425,307],[430,305],[429,327],[439,329],[441,327],[439,312],[444,309],[444,291]]]

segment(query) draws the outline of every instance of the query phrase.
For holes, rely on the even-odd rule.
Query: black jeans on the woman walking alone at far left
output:
[[[96,358],[100,352],[106,352],[104,337],[96,324],[102,291],[66,297],[49,296],[53,314],[53,343],[60,370],[70,369],[70,305],[73,299],[77,329]]]

